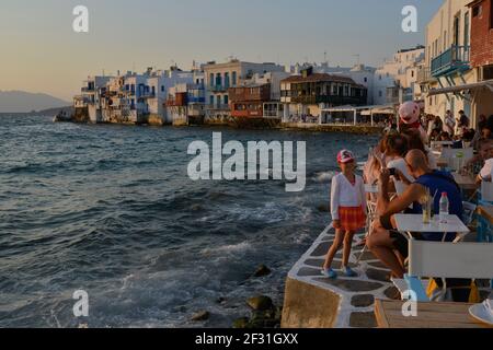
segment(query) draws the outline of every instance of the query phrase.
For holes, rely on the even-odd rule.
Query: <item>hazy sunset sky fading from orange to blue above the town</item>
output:
[[[188,69],[195,59],[322,61],[378,66],[424,44],[442,0],[1,0],[0,90],[66,101],[88,74],[146,67]],[[72,31],[72,9],[90,11],[90,33]],[[419,9],[419,33],[403,33],[401,10]]]

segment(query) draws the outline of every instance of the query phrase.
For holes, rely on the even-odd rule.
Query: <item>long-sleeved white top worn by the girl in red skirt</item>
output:
[[[366,212],[366,191],[365,183],[363,177],[356,176],[356,183],[349,183],[344,174],[339,174],[332,178],[332,190],[331,190],[331,213],[332,220],[339,220],[339,208],[349,207],[356,208],[362,207]]]

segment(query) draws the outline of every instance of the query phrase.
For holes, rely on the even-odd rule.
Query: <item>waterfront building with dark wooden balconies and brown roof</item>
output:
[[[314,73],[305,69],[280,82],[280,102],[284,122],[321,122],[321,109],[367,102],[367,89],[353,79],[339,74]]]

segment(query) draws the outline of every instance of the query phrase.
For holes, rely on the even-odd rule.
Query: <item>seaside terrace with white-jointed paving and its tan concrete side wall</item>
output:
[[[398,290],[390,282],[390,271],[371,253],[366,252],[356,266],[363,249],[356,244],[365,232],[355,236],[349,258],[349,266],[359,276],[340,276],[336,280],[323,277],[321,269],[333,236],[334,229],[326,228],[289,271],[283,327],[375,328],[375,300],[399,298]],[[335,256],[333,265],[337,271],[341,260],[342,252]],[[308,301],[300,303],[300,298]]]

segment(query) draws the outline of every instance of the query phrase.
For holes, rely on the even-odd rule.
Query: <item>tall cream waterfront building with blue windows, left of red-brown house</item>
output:
[[[229,89],[249,81],[255,73],[284,72],[275,63],[251,63],[232,59],[226,63],[209,62],[204,67],[206,89],[206,121],[228,124],[232,121]]]

